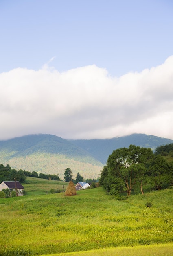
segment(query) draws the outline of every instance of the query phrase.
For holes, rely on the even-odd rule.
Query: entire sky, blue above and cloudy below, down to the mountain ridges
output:
[[[173,139],[172,0],[0,0],[0,140]]]

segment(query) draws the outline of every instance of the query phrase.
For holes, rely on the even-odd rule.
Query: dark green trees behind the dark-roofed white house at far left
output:
[[[4,166],[0,164],[0,183],[2,181],[14,181],[17,180],[19,182],[24,183],[26,180],[26,175],[24,174],[23,170],[15,170],[12,169],[9,164]]]

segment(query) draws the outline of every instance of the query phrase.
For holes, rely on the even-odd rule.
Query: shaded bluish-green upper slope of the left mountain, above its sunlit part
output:
[[[26,135],[0,141],[0,150],[13,152],[13,157],[26,156],[35,152],[59,153],[68,157],[91,157],[91,154],[72,142],[55,135]]]

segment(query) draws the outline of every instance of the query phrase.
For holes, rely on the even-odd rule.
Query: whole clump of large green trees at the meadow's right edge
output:
[[[171,150],[173,144],[165,146]],[[130,145],[129,148],[114,150],[103,167],[99,184],[110,195],[119,197],[123,193],[144,194],[144,191],[166,189],[173,185],[173,161],[163,157],[164,147],[158,147],[155,153],[151,148]]]

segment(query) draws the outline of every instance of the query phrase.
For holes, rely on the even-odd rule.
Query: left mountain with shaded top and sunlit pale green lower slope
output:
[[[0,163],[12,168],[38,173],[59,174],[66,168],[74,178],[79,172],[85,178],[97,178],[102,164],[75,144],[55,135],[27,135],[0,141]]]

